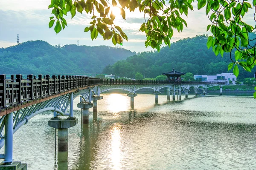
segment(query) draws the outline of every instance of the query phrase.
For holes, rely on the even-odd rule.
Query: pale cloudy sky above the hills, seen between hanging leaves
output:
[[[114,46],[111,40],[103,40],[98,36],[96,40],[91,40],[90,32],[84,32],[84,28],[89,26],[91,16],[83,12],[76,12],[76,16],[71,20],[68,14],[67,27],[58,35],[54,32],[54,26],[49,29],[49,17],[51,9],[48,9],[50,0],[0,0],[0,48],[17,44],[17,34],[20,43],[28,40],[44,40],[51,45],[61,46],[66,44],[77,44],[87,46]],[[184,26],[183,32],[174,32],[171,42],[196,35],[211,34],[206,31],[210,24],[205,14],[205,9],[197,10],[196,3],[193,4],[194,11],[189,11],[188,17],[184,14],[188,28]],[[250,16],[253,16],[250,14]],[[254,26],[252,17],[246,20]],[[139,32],[140,25],[143,23],[143,14],[139,11],[126,12],[126,20],[121,15],[116,16],[115,24],[120,26],[128,36],[128,42],[124,40],[122,48],[135,52],[151,51],[152,48],[145,48],[145,34]],[[164,43],[163,43],[164,44]]]

